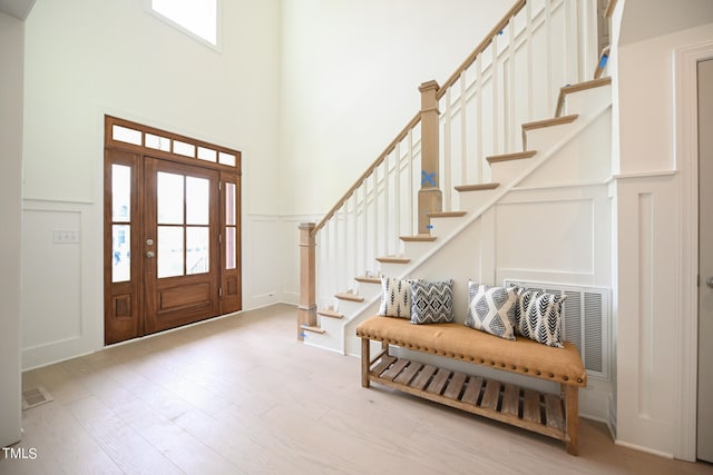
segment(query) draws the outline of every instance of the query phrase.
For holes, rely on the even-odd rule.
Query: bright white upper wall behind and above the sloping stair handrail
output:
[[[284,1],[282,212],[326,212],[512,3]]]

